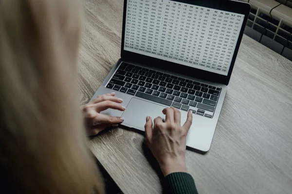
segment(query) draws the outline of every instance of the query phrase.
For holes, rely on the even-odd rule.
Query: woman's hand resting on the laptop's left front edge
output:
[[[100,113],[107,109],[126,110],[126,107],[121,105],[123,100],[114,96],[115,93],[98,96],[82,107],[89,136],[97,135],[108,127],[117,127],[118,123],[124,121],[122,117],[114,117]]]

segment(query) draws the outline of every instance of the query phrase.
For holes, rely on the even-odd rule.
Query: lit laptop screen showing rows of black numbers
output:
[[[128,0],[124,49],[227,76],[243,20],[172,0]]]

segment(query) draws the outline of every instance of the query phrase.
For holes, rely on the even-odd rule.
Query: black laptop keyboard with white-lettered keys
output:
[[[106,86],[136,97],[212,118],[221,88],[122,63]]]

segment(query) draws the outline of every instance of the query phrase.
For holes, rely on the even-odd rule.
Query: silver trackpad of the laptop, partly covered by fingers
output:
[[[130,100],[126,111],[122,115],[122,117],[125,118],[122,125],[135,129],[145,130],[144,126],[147,116],[150,116],[152,121],[158,116],[165,119],[165,115],[162,113],[164,108],[167,107],[133,97]],[[182,120],[185,121],[187,113],[181,113]]]

